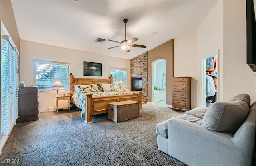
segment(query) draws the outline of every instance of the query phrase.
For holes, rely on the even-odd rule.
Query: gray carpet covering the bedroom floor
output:
[[[80,111],[39,113],[17,124],[0,159],[26,166],[186,166],[157,149],[155,126],[181,111],[143,104],[140,117],[115,123],[107,115],[86,124]]]

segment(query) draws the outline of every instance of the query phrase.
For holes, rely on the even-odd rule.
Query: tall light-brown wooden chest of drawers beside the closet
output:
[[[191,109],[191,77],[174,77],[172,110],[188,111]]]

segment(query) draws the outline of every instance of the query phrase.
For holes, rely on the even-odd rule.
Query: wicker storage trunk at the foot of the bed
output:
[[[139,117],[139,102],[126,100],[121,102],[108,103],[108,119],[121,122]]]

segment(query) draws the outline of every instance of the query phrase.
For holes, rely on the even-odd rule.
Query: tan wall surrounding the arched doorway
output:
[[[148,102],[153,102],[151,96],[153,91],[152,85],[152,62],[157,59],[166,60],[166,104],[172,105],[172,77],[173,77],[173,43],[174,40],[148,51]],[[151,87],[151,88],[150,88]]]

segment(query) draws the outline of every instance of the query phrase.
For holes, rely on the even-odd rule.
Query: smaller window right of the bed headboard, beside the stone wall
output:
[[[119,81],[124,82],[122,88],[127,88],[127,70],[111,68],[111,75],[113,77],[113,84],[115,88],[119,88],[117,84]]]

